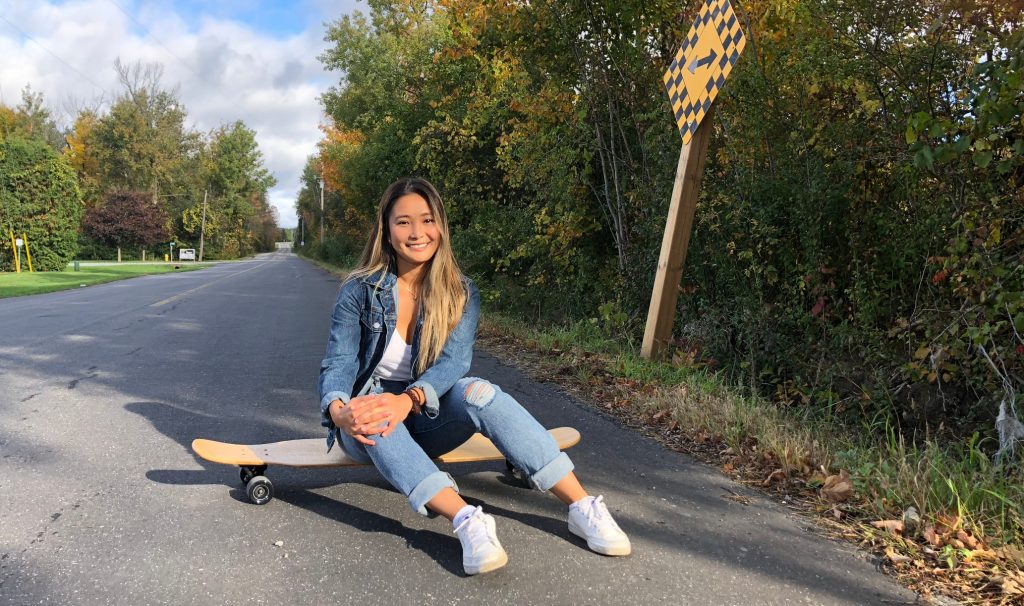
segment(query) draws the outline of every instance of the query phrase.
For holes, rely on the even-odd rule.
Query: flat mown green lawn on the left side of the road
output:
[[[143,265],[141,263],[122,263],[120,265],[88,265],[81,264],[81,271],[66,269],[63,271],[36,271],[22,273],[0,273],[0,299],[6,297],[23,297],[78,289],[105,282],[127,279],[151,273],[167,273],[170,271],[191,271],[204,265],[178,264],[179,269],[170,263]]]

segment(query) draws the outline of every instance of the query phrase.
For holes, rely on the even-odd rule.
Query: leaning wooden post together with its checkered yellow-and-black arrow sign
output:
[[[745,46],[746,39],[729,0],[702,0],[686,41],[665,73],[665,88],[683,137],[683,147],[679,153],[669,218],[647,311],[647,328],[640,349],[640,354],[646,358],[657,357],[672,337],[679,282],[690,244],[697,190],[713,126],[712,103]]]

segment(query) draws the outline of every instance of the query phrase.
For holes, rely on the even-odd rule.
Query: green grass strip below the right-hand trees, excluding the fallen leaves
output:
[[[588,366],[596,363],[613,377],[651,386],[649,394],[631,399],[631,407],[671,413],[666,422],[675,420],[687,434],[712,436],[736,452],[756,444],[772,467],[808,485],[820,483],[822,469],[846,470],[857,487],[856,504],[850,505],[868,519],[899,518],[913,506],[926,524],[955,516],[964,527],[997,540],[1024,539],[1020,458],[996,466],[991,441],[910,441],[884,419],[845,426],[830,416],[751,395],[707,367],[643,359],[634,343],[609,337],[593,321],[538,327],[488,312],[481,327],[569,361],[584,384],[594,374]]]

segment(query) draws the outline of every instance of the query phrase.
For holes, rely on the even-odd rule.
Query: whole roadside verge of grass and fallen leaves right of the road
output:
[[[977,436],[940,445],[910,444],[888,426],[858,435],[742,395],[706,369],[642,360],[571,329],[544,332],[488,313],[479,341],[534,378],[814,518],[830,536],[857,543],[926,598],[1024,603],[1021,469],[996,468]]]

